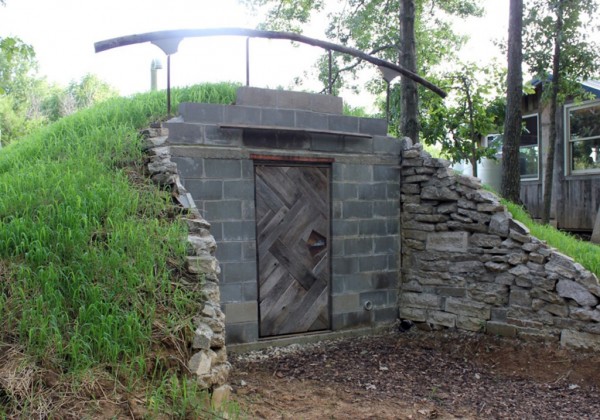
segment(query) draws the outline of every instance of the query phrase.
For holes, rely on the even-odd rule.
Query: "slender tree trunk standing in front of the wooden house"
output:
[[[558,106],[558,90],[560,85],[560,52],[562,43],[563,2],[558,2],[556,10],[556,31],[554,39],[554,56],[552,57],[552,92],[550,97],[550,130],[548,139],[548,155],[546,156],[546,172],[544,173],[544,207],[542,209],[542,223],[550,221],[552,204],[552,188],[554,185],[554,155],[558,133],[556,130],[556,108]]]

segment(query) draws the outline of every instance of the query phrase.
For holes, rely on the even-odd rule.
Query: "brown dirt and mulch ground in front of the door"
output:
[[[600,353],[558,343],[413,328],[230,361],[250,418],[600,418]]]

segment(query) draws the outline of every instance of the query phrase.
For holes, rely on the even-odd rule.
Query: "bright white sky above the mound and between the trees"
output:
[[[465,58],[489,62],[499,56],[492,39],[505,36],[508,0],[486,0],[484,19],[469,19],[457,28],[469,33]],[[154,45],[138,44],[96,54],[94,42],[118,36],[167,29],[248,27],[257,18],[237,0],[6,0],[0,7],[0,37],[18,36],[33,45],[40,73],[66,85],[86,73],[98,75],[122,94],[150,86],[150,63],[163,53]],[[319,28],[309,36],[323,38]],[[320,54],[310,46],[292,48],[287,41],[251,41],[251,84],[288,87],[294,77],[310,70]],[[184,40],[173,55],[172,85],[204,81],[245,82],[245,40],[241,37]],[[426,75],[424,75],[426,77]],[[159,88],[166,72],[159,71]],[[357,101],[345,98],[350,103]],[[350,99],[350,100],[349,100]],[[359,101],[360,102],[360,101]]]

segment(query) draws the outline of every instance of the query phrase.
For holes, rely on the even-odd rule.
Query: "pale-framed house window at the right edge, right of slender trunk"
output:
[[[600,102],[566,108],[569,172],[600,170]]]

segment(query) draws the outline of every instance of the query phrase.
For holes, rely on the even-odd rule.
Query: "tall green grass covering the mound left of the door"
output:
[[[234,97],[230,84],[176,89],[173,109]],[[92,369],[126,387],[165,383],[148,374],[156,336],[189,333],[173,320],[189,330],[201,301],[173,281],[186,231],[163,217],[169,195],[130,176],[143,161],[138,130],[165,111],[164,92],[111,99],[0,151],[1,339],[73,383]],[[169,392],[156,410],[181,414]],[[0,414],[23,409],[2,401]]]

